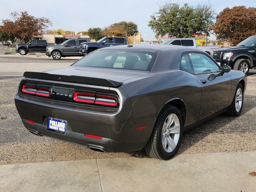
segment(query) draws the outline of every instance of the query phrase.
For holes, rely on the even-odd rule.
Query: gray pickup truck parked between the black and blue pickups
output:
[[[60,45],[47,46],[45,54],[55,60],[61,57],[82,56],[79,54],[79,48],[83,42],[89,42],[89,39],[68,39]]]

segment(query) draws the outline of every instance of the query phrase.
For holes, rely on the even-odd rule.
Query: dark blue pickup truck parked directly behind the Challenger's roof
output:
[[[79,53],[86,55],[94,50],[104,47],[111,47],[117,45],[126,45],[126,38],[122,37],[103,37],[97,42],[84,42],[80,44]]]

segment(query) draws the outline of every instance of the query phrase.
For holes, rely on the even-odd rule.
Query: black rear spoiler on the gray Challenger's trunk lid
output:
[[[62,81],[70,83],[80,83],[80,84],[89,84],[89,85],[98,85],[98,86],[110,86],[118,87],[122,85],[122,82],[116,82],[108,79],[100,79],[93,77],[82,77],[82,76],[67,76],[67,75],[57,75],[49,74],[44,72],[24,72],[23,74],[26,78],[33,79],[43,79],[43,80],[53,80],[53,81]]]

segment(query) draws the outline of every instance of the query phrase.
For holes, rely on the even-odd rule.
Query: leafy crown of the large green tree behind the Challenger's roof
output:
[[[208,28],[213,23],[214,15],[212,6],[198,5],[193,8],[186,3],[182,7],[178,3],[166,3],[150,16],[148,26],[156,36],[188,38],[195,33],[209,34]]]

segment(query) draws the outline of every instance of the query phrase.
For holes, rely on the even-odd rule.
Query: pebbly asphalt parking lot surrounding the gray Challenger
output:
[[[14,105],[14,95],[23,70],[62,68],[77,59],[54,61],[43,54],[0,55],[0,164],[146,157],[144,150],[130,153],[94,152],[82,146],[35,136],[23,126]],[[10,74],[6,74],[8,71]],[[255,93],[256,70],[251,70],[241,116],[221,115],[184,133],[178,154],[256,151]]]

